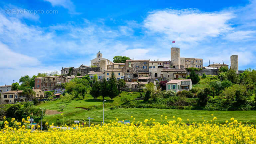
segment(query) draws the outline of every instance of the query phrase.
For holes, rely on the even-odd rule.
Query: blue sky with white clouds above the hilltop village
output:
[[[203,66],[230,65],[237,54],[239,70],[256,69],[255,14],[256,0],[1,1],[0,85],[90,65],[98,51],[110,60],[170,60],[173,40],[181,57],[203,58]]]

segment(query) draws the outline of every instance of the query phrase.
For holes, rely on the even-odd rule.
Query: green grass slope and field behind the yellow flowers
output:
[[[226,120],[230,120],[230,118],[235,118],[238,121],[242,121],[243,123],[256,124],[256,111],[198,111],[198,110],[175,110],[175,109],[136,109],[136,108],[121,108],[111,110],[111,106],[120,105],[121,99],[124,97],[133,99],[137,98],[140,94],[137,92],[122,92],[120,96],[116,97],[111,101],[109,98],[106,98],[105,109],[104,109],[104,122],[114,121],[116,118],[119,120],[132,120],[131,116],[135,118],[135,121],[144,121],[145,119],[154,118],[157,122],[161,122],[160,116],[167,116],[168,120],[173,120],[173,116],[181,117],[184,121],[189,119],[191,122],[203,122],[204,120],[210,121],[212,120],[211,114],[217,117],[217,121],[220,123],[224,123]],[[41,103],[37,107],[46,108],[49,110],[57,110],[60,105],[64,105],[60,103],[61,100],[49,101],[46,103]],[[96,109],[92,110],[84,110],[76,107],[94,107],[98,106]],[[92,122],[101,123],[103,118],[103,110],[102,110],[103,102],[102,98],[93,99],[92,96],[87,95],[85,99],[74,99],[72,102],[65,106],[63,109],[64,117],[66,120],[79,120],[87,121],[88,117],[94,118]],[[204,119],[202,119],[204,118]],[[44,120],[55,123],[57,119],[62,119],[61,114],[55,115],[46,115]],[[164,121],[164,120],[163,120]]]

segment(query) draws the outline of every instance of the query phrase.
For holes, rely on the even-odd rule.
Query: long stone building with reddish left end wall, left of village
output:
[[[64,76],[47,76],[35,78],[35,89],[43,91],[61,89],[61,84],[66,83]]]

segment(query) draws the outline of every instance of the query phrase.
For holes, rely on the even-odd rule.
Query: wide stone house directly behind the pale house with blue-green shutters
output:
[[[185,78],[187,77],[187,71],[179,68],[163,69],[161,71],[161,77],[167,80]]]

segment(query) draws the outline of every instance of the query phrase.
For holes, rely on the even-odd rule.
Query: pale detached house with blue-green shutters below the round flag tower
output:
[[[166,83],[166,90],[173,90],[175,92],[183,91],[183,90],[191,90],[192,89],[192,81],[191,79],[186,80],[171,80]]]

